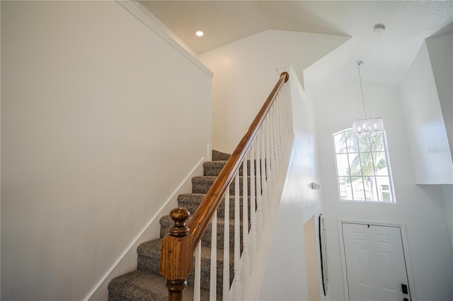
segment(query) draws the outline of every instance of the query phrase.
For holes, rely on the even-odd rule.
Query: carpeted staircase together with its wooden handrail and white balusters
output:
[[[256,299],[294,138],[291,101],[287,99],[291,95],[287,90],[289,85],[285,85],[287,89],[282,89],[288,79],[289,73],[280,73],[279,80],[231,158],[213,151],[212,162],[203,165],[204,176],[193,177],[192,193],[178,196],[178,205],[193,213],[185,222],[188,227],[184,225],[188,218],[187,211],[173,209],[174,223],[169,216],[161,218],[160,238],[139,245],[137,270],[110,281],[109,300],[168,300],[166,280],[160,276],[162,245],[166,252],[162,271],[171,285],[171,300],[194,298],[195,272],[188,275],[192,265],[190,256],[194,251],[197,254],[194,270],[200,273],[197,274],[200,286],[197,285],[196,293],[199,290],[201,292],[197,300],[222,300],[222,293],[231,291],[229,288],[233,278],[236,280],[232,287],[234,300]],[[214,181],[215,186],[210,189]],[[235,191],[236,187],[239,191]],[[230,197],[225,200],[228,191]],[[225,208],[225,201],[229,201],[229,208]],[[200,209],[196,210],[198,206]],[[226,217],[229,220],[224,219],[224,213],[229,213],[229,217]],[[214,224],[217,233],[214,232],[214,235],[210,228],[212,220],[217,220]],[[166,236],[170,226],[171,234]],[[224,237],[224,230],[229,232],[229,237]],[[211,252],[212,237],[216,237],[217,250]],[[229,244],[225,251],[224,244]],[[214,261],[212,273],[217,274],[215,278],[211,273],[211,254]],[[223,262],[224,255],[225,258],[229,257],[225,259],[228,263]],[[229,268],[225,274],[229,274],[229,281],[225,283],[229,284],[229,288],[224,292],[222,285],[226,264]],[[197,268],[199,266],[201,268]],[[182,290],[180,284],[185,278],[188,288]],[[211,279],[212,287],[216,286],[212,294],[209,291]]]

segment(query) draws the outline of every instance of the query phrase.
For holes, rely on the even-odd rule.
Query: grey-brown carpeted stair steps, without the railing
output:
[[[214,179],[224,167],[229,155],[212,151],[212,161],[203,164],[203,176],[193,177],[193,189],[190,194],[180,194],[178,196],[178,206],[188,208],[190,213],[194,213],[205,194],[210,189]],[[242,190],[242,189],[241,189]],[[234,184],[230,191],[234,191]],[[230,216],[234,217],[234,198],[230,197]],[[242,202],[242,197],[241,197]],[[242,205],[241,205],[242,206]],[[223,283],[223,244],[224,244],[224,203],[221,203],[217,211],[217,300],[222,300]],[[163,216],[160,220],[160,237],[156,240],[144,242],[137,248],[137,270],[125,275],[113,278],[108,285],[108,300],[168,300],[168,290],[166,280],[160,276],[161,263],[161,242],[168,233],[168,228],[173,224],[169,216]],[[230,285],[233,280],[233,248],[234,243],[234,223],[230,220],[230,256],[229,271]],[[241,231],[242,233],[242,231]],[[201,300],[209,300],[210,297],[210,243],[211,231],[207,230],[202,240],[202,259],[201,259]],[[193,300],[194,272],[188,278],[188,288],[184,290],[183,300]]]

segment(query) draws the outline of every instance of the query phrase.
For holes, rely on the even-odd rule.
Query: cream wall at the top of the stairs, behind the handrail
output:
[[[277,82],[275,69],[292,65],[297,75],[349,37],[266,30],[200,54],[214,72],[212,145],[232,152]],[[301,78],[302,79],[302,78]]]

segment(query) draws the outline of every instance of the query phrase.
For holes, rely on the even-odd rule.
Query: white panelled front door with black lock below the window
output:
[[[411,300],[401,229],[342,225],[349,300]]]

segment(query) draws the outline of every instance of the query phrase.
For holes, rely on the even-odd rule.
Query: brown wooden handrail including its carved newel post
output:
[[[242,160],[251,147],[261,124],[273,105],[275,97],[282,88],[283,83],[289,79],[289,73],[282,72],[280,78],[270,92],[260,112],[249,126],[246,134],[231,154],[224,168],[217,176],[205,198],[197,207],[188,225],[185,220],[190,213],[185,208],[176,208],[171,211],[171,218],[175,225],[170,228],[170,233],[162,241],[161,275],[167,279],[168,300],[181,300],[182,290],[185,288],[185,279],[192,272],[192,256],[197,244],[205,234],[207,227],[222,202],[224,193],[233,181],[234,175],[239,170]],[[190,261],[190,262],[187,262]]]

